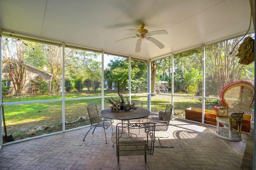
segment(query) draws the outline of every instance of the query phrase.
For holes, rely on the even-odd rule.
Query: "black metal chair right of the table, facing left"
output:
[[[159,114],[150,114],[148,116],[147,123],[155,123],[156,125],[156,131],[167,131],[170,123],[170,119],[172,117],[172,109],[173,106],[171,104],[166,104],[166,108],[164,111],[164,115],[159,115]],[[168,146],[163,146],[160,141],[160,137],[158,138],[158,141],[160,143],[160,146],[155,146],[155,147],[167,147],[167,148],[173,148],[173,147],[168,147]]]

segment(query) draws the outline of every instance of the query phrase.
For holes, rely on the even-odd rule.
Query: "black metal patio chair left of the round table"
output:
[[[89,115],[89,119],[90,119],[90,123],[91,123],[90,130],[93,128],[95,130],[96,127],[103,127],[104,132],[105,132],[106,144],[107,144],[107,137],[106,137],[105,129],[108,129],[108,127],[110,127],[110,125],[112,127],[112,123],[114,123],[114,121],[106,120],[106,119],[104,119],[104,117],[101,117],[99,115],[98,108],[97,108],[96,104],[88,104],[87,111],[88,111],[88,115]],[[94,133],[94,130],[92,131],[92,134]],[[86,135],[89,133],[89,131],[86,133]],[[112,134],[113,134],[113,127],[112,127]],[[86,135],[85,135],[85,137],[86,137]],[[85,139],[85,137],[84,137],[84,139]]]

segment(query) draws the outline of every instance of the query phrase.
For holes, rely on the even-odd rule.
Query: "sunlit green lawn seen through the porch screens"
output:
[[[107,91],[105,95],[117,95],[114,91]],[[81,98],[88,96],[100,96],[100,90],[96,92],[68,92],[65,98]],[[61,99],[62,95],[39,95],[29,94],[22,97],[4,96],[3,102],[22,102],[36,100],[52,100]],[[120,99],[119,97],[115,99]],[[147,96],[132,96],[132,100],[142,100],[144,108],[147,108]],[[152,96],[151,108],[152,112],[158,113],[164,110],[166,104],[171,104],[170,96]],[[86,106],[89,103],[96,103],[98,110],[101,110],[101,98],[87,100],[71,100],[65,102],[65,121],[68,123],[65,129],[73,129],[89,125],[88,113]],[[104,103],[105,108],[110,104]],[[202,102],[196,98],[174,98],[174,116],[185,118],[185,109],[188,107],[202,107]],[[36,104],[19,104],[12,106],[4,106],[4,115],[6,121],[6,129],[8,135],[12,134],[15,140],[25,139],[33,136],[54,133],[62,131],[62,102],[46,102]],[[84,122],[70,123],[76,121],[79,117],[85,117]],[[48,128],[37,131],[34,135],[28,135],[28,131],[36,129],[39,126],[47,125]],[[4,130],[4,129],[3,129]],[[4,134],[4,133],[3,133]]]

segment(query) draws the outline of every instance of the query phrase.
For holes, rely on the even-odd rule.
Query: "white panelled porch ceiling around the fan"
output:
[[[137,38],[115,43],[140,23],[168,32],[152,36],[163,49],[146,39],[139,53]],[[249,23],[249,0],[0,0],[2,33],[146,60],[242,35]]]

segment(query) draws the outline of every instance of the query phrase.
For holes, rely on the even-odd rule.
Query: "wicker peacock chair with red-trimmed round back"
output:
[[[242,120],[246,111],[254,101],[254,86],[250,82],[238,81],[228,84],[220,92],[222,107],[215,107],[217,131],[216,135],[230,141],[242,139]],[[224,127],[220,127],[220,123]],[[238,125],[238,130],[233,127]]]

